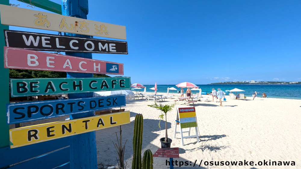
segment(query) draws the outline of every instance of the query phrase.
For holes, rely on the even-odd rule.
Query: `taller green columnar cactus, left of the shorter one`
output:
[[[132,169],[141,169],[141,149],[142,149],[142,134],[143,134],[143,115],[137,114],[134,124],[133,136],[133,163]]]

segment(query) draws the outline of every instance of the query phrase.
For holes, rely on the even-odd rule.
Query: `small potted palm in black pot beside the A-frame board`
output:
[[[167,112],[169,112],[169,111],[171,111],[172,110],[172,107],[175,107],[175,103],[174,104],[165,104],[165,105],[163,105],[163,104],[157,104],[156,102],[154,103],[154,104],[152,104],[152,105],[147,105],[147,106],[150,106],[150,107],[154,107],[154,108],[156,108],[157,110],[161,110],[161,114],[159,115],[159,119],[160,119],[160,121],[159,121],[159,128],[161,129],[161,127],[160,127],[160,122],[161,122],[161,120],[163,120],[164,119],[164,116],[165,116],[165,137],[162,137],[161,139],[160,139],[160,141],[161,141],[161,148],[170,148],[170,145],[171,145],[171,142],[172,142],[172,139],[170,139],[170,138],[168,138],[167,137],[167,118],[166,118],[166,113]],[[164,114],[163,114],[163,113]]]

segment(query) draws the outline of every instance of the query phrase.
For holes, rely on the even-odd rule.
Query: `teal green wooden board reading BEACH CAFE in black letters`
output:
[[[11,79],[11,97],[130,89],[130,77]]]

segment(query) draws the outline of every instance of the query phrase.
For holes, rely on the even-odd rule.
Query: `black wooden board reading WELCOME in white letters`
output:
[[[7,47],[57,52],[128,54],[127,42],[5,30]]]

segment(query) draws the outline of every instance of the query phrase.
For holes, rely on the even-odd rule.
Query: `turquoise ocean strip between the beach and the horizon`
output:
[[[197,84],[196,84],[197,85]],[[144,85],[146,87],[146,92],[154,92],[150,88],[154,87],[155,85]],[[262,93],[265,93],[268,98],[286,98],[286,99],[299,99],[301,100],[301,85],[300,84],[292,84],[292,85],[281,85],[281,84],[274,84],[274,85],[260,85],[260,84],[252,84],[252,85],[197,85],[199,88],[202,89],[202,92],[207,92],[208,94],[212,91],[212,88],[216,90],[221,88],[222,91],[231,90],[234,88],[238,88],[244,90],[245,96],[252,96],[253,92],[259,92],[258,96],[261,97]],[[175,85],[157,85],[157,92],[166,93],[167,88],[174,87],[180,91],[181,88],[178,88]],[[184,89],[184,93],[186,89]],[[132,90],[136,91],[136,90]],[[143,92],[144,89],[140,89],[140,92]],[[139,91],[138,91],[139,92]],[[177,93],[177,90],[169,90],[170,93]],[[193,90],[192,93],[199,93],[198,90]],[[228,95],[228,92],[226,92]],[[235,93],[235,92],[234,92]],[[237,93],[238,94],[238,93]]]

